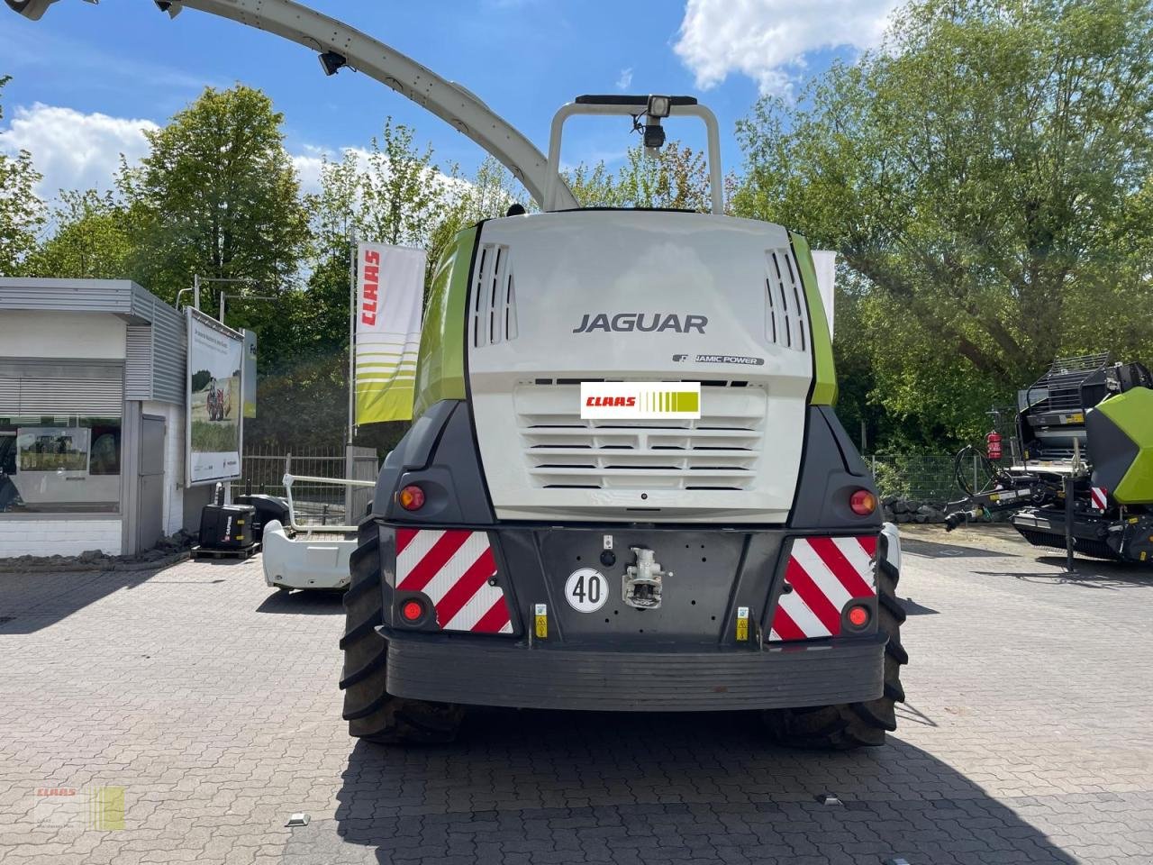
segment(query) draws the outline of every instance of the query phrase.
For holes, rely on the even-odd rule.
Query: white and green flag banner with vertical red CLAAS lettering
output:
[[[356,249],[356,423],[413,416],[424,300],[423,249]]]

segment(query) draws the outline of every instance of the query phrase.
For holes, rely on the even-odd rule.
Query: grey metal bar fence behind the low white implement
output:
[[[286,474],[312,477],[376,480],[378,462],[370,447],[311,447],[285,452],[250,450],[241,458],[241,477],[232,495],[243,492],[284,496]],[[371,490],[336,483],[296,481],[292,488],[296,520],[310,526],[355,525],[371,501]],[[347,518],[347,519],[346,519]]]

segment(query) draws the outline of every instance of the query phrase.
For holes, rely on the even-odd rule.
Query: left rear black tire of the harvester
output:
[[[385,691],[389,642],[376,631],[384,622],[379,533],[371,532],[352,555],[352,582],[345,593],[344,717],[348,735],[382,744],[443,743],[457,738],[461,706],[407,700]]]

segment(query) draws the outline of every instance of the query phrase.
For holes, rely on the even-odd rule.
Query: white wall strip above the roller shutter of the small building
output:
[[[0,315],[0,355],[123,360],[127,326],[110,313],[6,309]]]

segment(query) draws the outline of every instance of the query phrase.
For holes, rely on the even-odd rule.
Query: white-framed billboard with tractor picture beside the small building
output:
[[[188,483],[240,476],[244,337],[188,308]]]

